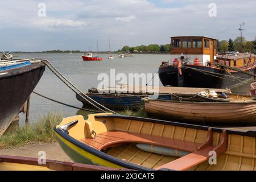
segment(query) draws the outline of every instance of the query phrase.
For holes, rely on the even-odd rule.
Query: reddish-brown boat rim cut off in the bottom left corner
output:
[[[57,160],[39,164],[36,158],[0,155],[0,171],[113,171],[116,168],[93,166]],[[125,169],[119,169],[125,170]]]

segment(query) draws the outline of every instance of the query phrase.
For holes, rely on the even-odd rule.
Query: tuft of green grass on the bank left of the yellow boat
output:
[[[63,118],[62,114],[48,113],[38,122],[22,127],[15,126],[0,137],[0,148],[19,147],[25,144],[53,142],[53,127]]]

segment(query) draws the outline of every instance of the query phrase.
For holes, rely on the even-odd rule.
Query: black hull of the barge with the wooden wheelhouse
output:
[[[255,67],[247,71],[256,73]],[[200,65],[186,65],[181,68],[181,72],[182,75],[175,65],[160,66],[158,71],[160,81],[164,86],[225,89],[241,85],[241,81],[254,79],[253,76],[241,72],[226,72],[223,69]]]

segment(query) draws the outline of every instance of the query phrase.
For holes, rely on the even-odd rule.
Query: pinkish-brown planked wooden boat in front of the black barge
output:
[[[228,94],[229,102],[143,99],[148,115],[172,121],[204,123],[256,123],[253,97]]]

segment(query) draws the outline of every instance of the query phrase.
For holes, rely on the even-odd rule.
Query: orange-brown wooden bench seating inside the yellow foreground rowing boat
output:
[[[225,152],[228,146],[228,137],[226,130],[223,130],[220,143],[218,146],[213,146],[213,131],[211,128],[208,130],[207,139],[204,143],[195,143],[179,139],[152,136],[148,134],[112,130],[97,134],[95,138],[81,139],[80,142],[84,142],[85,144],[100,151],[108,147],[117,146],[120,143],[146,143],[155,146],[192,152],[191,154],[185,155],[179,159],[156,168],[168,170],[185,170],[206,161],[210,157],[209,151],[216,151],[217,154]]]

